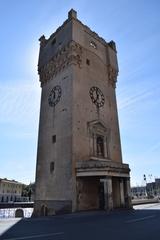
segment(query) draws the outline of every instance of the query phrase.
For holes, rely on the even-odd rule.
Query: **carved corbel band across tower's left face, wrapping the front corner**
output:
[[[57,73],[72,64],[79,67],[82,64],[82,47],[74,41],[69,42],[47,64],[38,69],[41,84],[51,80]]]

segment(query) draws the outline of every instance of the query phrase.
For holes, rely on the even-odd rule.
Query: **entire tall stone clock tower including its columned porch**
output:
[[[42,87],[35,215],[130,207],[122,163],[113,41],[77,19],[40,38]]]

